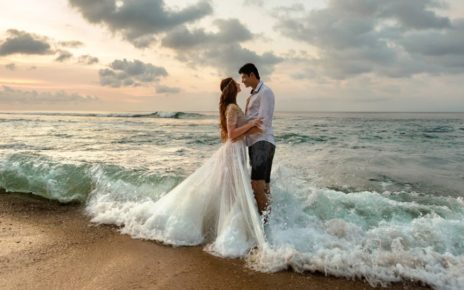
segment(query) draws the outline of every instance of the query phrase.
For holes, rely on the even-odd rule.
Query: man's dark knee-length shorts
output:
[[[250,156],[251,180],[265,180],[271,182],[272,159],[275,146],[267,141],[258,141],[248,147]]]

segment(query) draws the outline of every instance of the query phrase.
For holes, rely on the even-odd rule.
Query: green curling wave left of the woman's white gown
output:
[[[91,194],[156,198],[182,177],[110,164],[69,163],[34,153],[9,154],[0,160],[0,188],[32,193],[62,203],[84,203]]]

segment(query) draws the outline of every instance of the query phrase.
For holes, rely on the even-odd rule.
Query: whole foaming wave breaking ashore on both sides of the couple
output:
[[[16,153],[0,160],[0,187],[80,201],[99,223],[137,226],[183,176]],[[256,270],[322,272],[371,285],[416,280],[463,289],[464,200],[416,192],[318,188],[280,164],[273,170],[269,248]],[[143,227],[139,227],[143,228]],[[150,236],[150,233],[138,233]]]

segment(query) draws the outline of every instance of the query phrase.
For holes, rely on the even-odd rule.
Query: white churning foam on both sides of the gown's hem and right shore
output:
[[[313,187],[283,166],[275,168],[265,229],[269,244],[247,256],[249,267],[364,278],[373,286],[416,280],[437,289],[464,288],[462,198],[346,194]],[[118,187],[124,185],[113,183],[111,190],[121,192]],[[157,239],[146,226],[156,197],[124,200],[100,190],[87,205],[94,222],[124,225],[122,232],[134,238]]]

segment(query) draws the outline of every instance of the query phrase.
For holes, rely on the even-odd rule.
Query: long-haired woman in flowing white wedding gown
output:
[[[259,130],[261,119],[246,121],[236,103],[240,84],[221,81],[219,102],[222,146],[200,168],[159,199],[145,226],[166,244],[206,244],[223,257],[240,257],[265,243],[246,165],[244,137]]]

